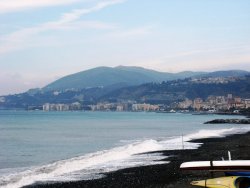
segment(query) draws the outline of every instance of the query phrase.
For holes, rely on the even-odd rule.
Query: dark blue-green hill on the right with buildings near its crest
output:
[[[188,78],[121,88],[102,97],[102,101],[135,100],[139,103],[170,104],[185,98],[206,99],[210,95],[250,97],[250,76]]]

